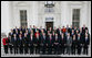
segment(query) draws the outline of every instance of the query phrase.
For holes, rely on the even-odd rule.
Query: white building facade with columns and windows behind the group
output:
[[[68,24],[82,27],[85,24],[91,34],[91,1],[53,1],[51,3],[54,5],[48,8],[45,4],[50,2],[1,1],[1,33],[8,35],[11,28],[20,27],[23,24],[28,27],[30,25],[45,27],[47,22],[52,22],[53,27],[62,27]],[[75,18],[78,20],[74,20]],[[21,20],[24,22],[21,23]]]

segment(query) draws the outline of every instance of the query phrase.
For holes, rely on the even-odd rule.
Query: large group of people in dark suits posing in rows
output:
[[[76,28],[67,25],[62,28],[13,28],[2,39],[4,53],[8,54],[71,54],[88,55],[90,34],[88,27]],[[83,49],[83,50],[82,50]]]

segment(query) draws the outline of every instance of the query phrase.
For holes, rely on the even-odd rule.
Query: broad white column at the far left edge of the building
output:
[[[8,35],[10,31],[10,2],[1,1],[1,33]]]

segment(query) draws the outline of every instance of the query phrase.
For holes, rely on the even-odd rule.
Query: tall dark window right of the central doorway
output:
[[[80,25],[80,9],[73,9],[72,25],[76,27]]]

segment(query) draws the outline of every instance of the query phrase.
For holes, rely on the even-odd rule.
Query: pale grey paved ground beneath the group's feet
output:
[[[30,54],[27,54],[27,55],[14,55],[14,54],[4,54],[3,53],[3,45],[2,45],[2,39],[1,39],[1,57],[91,57],[91,45],[89,47],[89,55],[30,55]]]

